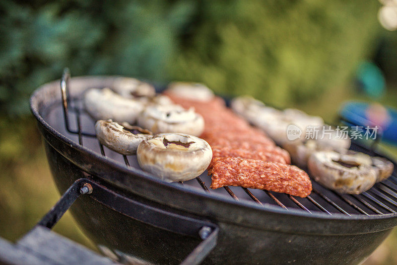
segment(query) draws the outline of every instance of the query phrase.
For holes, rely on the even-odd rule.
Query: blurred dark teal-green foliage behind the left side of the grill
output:
[[[118,74],[159,79],[193,1],[0,1],[0,102],[28,112],[34,88],[61,76]]]

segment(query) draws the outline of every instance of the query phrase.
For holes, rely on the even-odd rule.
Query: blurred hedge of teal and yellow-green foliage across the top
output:
[[[372,51],[377,1],[0,2],[0,111],[73,76],[181,79],[278,105],[341,84]]]

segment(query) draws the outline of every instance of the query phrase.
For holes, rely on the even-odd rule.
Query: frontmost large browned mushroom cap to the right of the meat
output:
[[[322,185],[340,193],[359,194],[376,182],[371,157],[362,153],[316,152],[309,158],[311,175]]]

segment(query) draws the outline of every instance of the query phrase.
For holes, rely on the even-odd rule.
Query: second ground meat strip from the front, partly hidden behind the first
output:
[[[272,154],[270,152],[264,152],[264,151],[251,152],[249,150],[230,148],[227,146],[226,147],[213,146],[212,161],[208,166],[208,170],[212,168],[215,159],[219,157],[238,157],[238,158],[262,160],[265,162],[278,162],[282,164],[287,164],[287,162],[282,156],[277,154]]]

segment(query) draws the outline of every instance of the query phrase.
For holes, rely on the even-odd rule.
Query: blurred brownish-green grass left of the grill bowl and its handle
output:
[[[16,241],[51,209],[60,194],[33,118],[2,119],[0,129],[0,236]],[[54,231],[95,249],[68,212]]]

